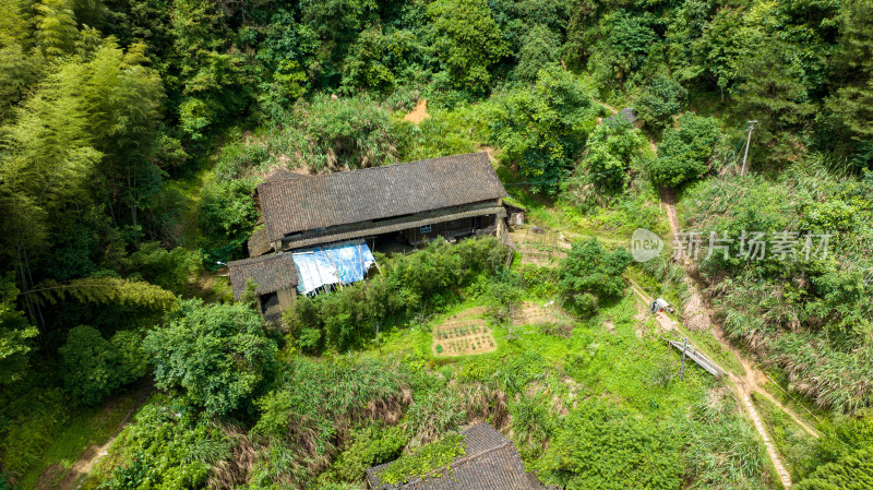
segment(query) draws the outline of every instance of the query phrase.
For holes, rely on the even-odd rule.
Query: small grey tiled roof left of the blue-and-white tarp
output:
[[[227,264],[234,298],[239,300],[246,291],[246,282],[251,277],[258,284],[256,295],[275,292],[286,287],[297,286],[297,268],[294,255],[276,253],[254,259],[234,261]]]

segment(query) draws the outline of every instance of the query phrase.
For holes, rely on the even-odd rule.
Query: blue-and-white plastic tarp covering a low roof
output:
[[[294,252],[297,290],[308,295],[330,284],[351,284],[363,279],[375,258],[362,239],[314,247]]]

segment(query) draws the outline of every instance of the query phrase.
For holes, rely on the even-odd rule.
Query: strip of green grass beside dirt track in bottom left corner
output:
[[[139,398],[140,390],[130,387],[100,407],[77,410],[51,438],[52,442],[45,449],[39,462],[22,475],[19,486],[22,489],[35,488],[39,476],[53,465],[60,465],[64,469],[58,475],[58,479],[62,478],[87,447],[109,440]]]

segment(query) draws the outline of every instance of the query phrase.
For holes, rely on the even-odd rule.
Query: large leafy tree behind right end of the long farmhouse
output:
[[[533,89],[495,96],[491,140],[534,191],[554,193],[579,157],[595,124],[589,91],[560,67],[540,70]]]

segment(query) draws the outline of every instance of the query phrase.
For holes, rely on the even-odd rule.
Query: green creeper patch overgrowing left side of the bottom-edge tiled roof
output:
[[[464,435],[447,434],[436,442],[419,447],[415,453],[405,454],[379,474],[379,478],[388,485],[411,481],[426,475],[443,476],[440,468],[449,469],[458,457],[467,454]]]

